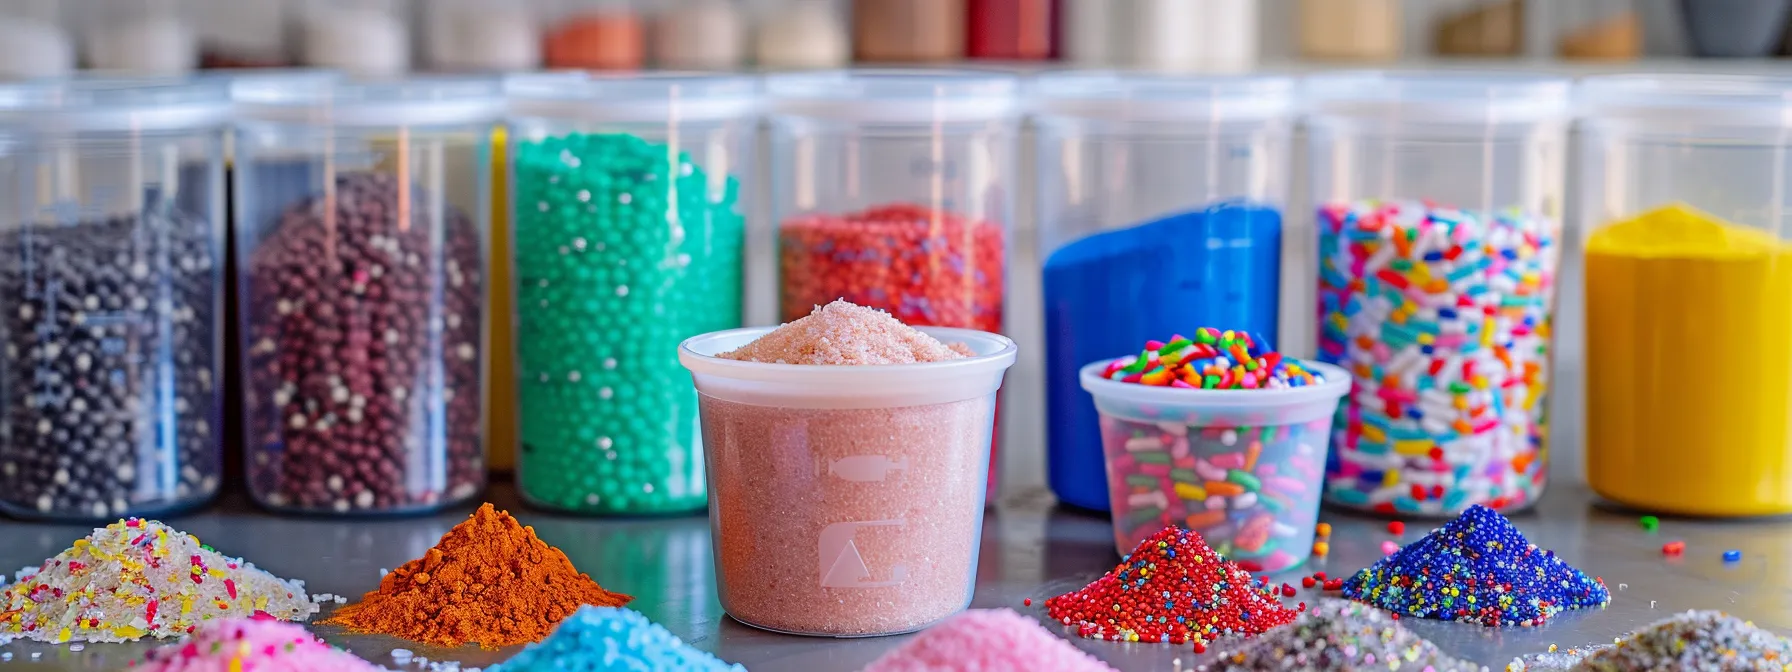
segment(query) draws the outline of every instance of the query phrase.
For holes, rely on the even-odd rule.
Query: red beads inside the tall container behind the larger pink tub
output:
[[[846,299],[909,326],[1002,332],[1002,224],[919,204],[801,215],[778,231],[783,321]]]

